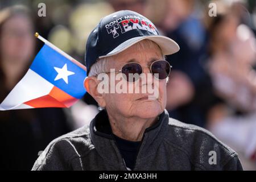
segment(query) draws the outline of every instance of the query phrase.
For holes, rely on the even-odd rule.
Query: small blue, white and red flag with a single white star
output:
[[[0,110],[69,107],[84,94],[86,71],[44,44],[26,75],[0,104]]]

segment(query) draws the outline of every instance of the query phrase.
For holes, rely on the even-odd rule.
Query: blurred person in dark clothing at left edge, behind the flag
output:
[[[34,58],[34,49],[34,27],[26,7],[1,10],[0,102],[26,73]],[[31,169],[39,151],[68,131],[62,109],[0,111],[0,169]]]

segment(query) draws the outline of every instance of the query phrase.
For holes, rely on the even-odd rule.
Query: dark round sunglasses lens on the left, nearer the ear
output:
[[[138,63],[127,63],[123,66],[122,73],[125,74],[127,81],[134,82],[141,75],[142,67]]]

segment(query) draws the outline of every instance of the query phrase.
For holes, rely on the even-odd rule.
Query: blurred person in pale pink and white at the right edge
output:
[[[256,40],[233,5],[216,3],[217,16],[207,17],[207,69],[217,98],[208,110],[207,127],[240,153],[245,169],[255,170]]]

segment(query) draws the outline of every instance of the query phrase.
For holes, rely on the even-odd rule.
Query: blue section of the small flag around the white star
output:
[[[67,68],[69,75],[60,78],[61,74],[58,75],[56,70],[65,70],[64,68]],[[36,55],[30,69],[75,98],[81,98],[86,93],[86,71],[46,44]]]

